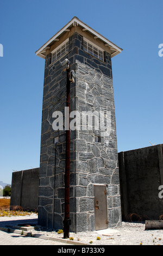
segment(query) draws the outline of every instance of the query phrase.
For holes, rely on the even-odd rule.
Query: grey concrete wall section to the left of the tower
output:
[[[39,168],[21,170],[12,173],[12,206],[21,206],[23,210],[36,211],[39,202]]]

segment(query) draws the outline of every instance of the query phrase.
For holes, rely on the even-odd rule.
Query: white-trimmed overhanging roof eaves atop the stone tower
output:
[[[111,42],[108,39],[106,39],[103,35],[99,34],[98,32],[96,32],[91,27],[87,26],[85,23],[80,21],[77,17],[73,17],[73,19],[70,22],[68,22],[67,25],[65,25],[62,29],[60,29],[60,31],[57,34],[55,34],[39,50],[37,50],[35,52],[36,55],[45,59],[45,55],[42,54],[42,53],[46,52],[47,47],[49,47],[49,44],[51,44],[53,41],[59,41],[58,37],[62,33],[65,33],[67,31],[69,31],[72,26],[80,26],[80,27],[82,27],[83,31],[87,31],[87,32],[91,33],[94,36],[94,38],[98,38],[99,40],[103,41],[105,46],[109,46],[111,48],[111,50],[114,51],[114,52],[112,52],[111,57],[114,57],[118,53],[121,53],[123,51],[122,48],[118,47],[113,42]]]

